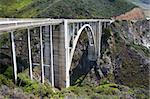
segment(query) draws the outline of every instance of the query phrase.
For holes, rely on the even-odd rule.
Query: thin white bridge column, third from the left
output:
[[[44,83],[44,61],[43,61],[43,34],[42,34],[42,26],[40,26],[40,54],[41,54],[41,82]]]

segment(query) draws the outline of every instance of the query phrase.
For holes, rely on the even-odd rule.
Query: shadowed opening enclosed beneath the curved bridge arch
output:
[[[70,85],[80,84],[96,63],[93,31],[87,26],[80,32],[69,69]]]

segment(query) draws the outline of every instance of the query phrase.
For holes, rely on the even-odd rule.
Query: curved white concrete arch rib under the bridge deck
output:
[[[89,24],[85,24],[83,25],[77,32],[77,36],[75,37],[74,41],[73,41],[73,48],[71,50],[71,57],[70,57],[70,65],[69,65],[69,70],[71,68],[71,63],[72,63],[72,60],[73,60],[73,56],[74,56],[74,53],[75,53],[75,49],[76,49],[76,46],[77,46],[77,43],[79,41],[79,38],[82,34],[82,32],[86,30],[86,34],[88,36],[88,40],[89,40],[89,46],[93,47],[94,48],[94,53],[96,52],[96,40],[95,40],[95,34],[94,34],[94,31],[92,29],[92,27],[89,25]]]

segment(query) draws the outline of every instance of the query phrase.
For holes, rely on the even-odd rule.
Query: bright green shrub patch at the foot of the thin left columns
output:
[[[32,81],[25,73],[19,73],[18,78],[22,82],[21,86],[23,90],[27,93],[32,93],[38,97],[45,96],[49,98],[53,95],[52,88],[48,83],[41,84],[38,81]]]

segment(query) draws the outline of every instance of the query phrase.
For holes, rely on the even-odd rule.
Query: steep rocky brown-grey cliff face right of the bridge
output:
[[[114,82],[148,89],[150,71],[149,21],[116,21],[109,27],[109,47],[103,53],[102,66],[110,64]],[[107,32],[108,32],[107,30]],[[106,52],[110,54],[106,55]]]

